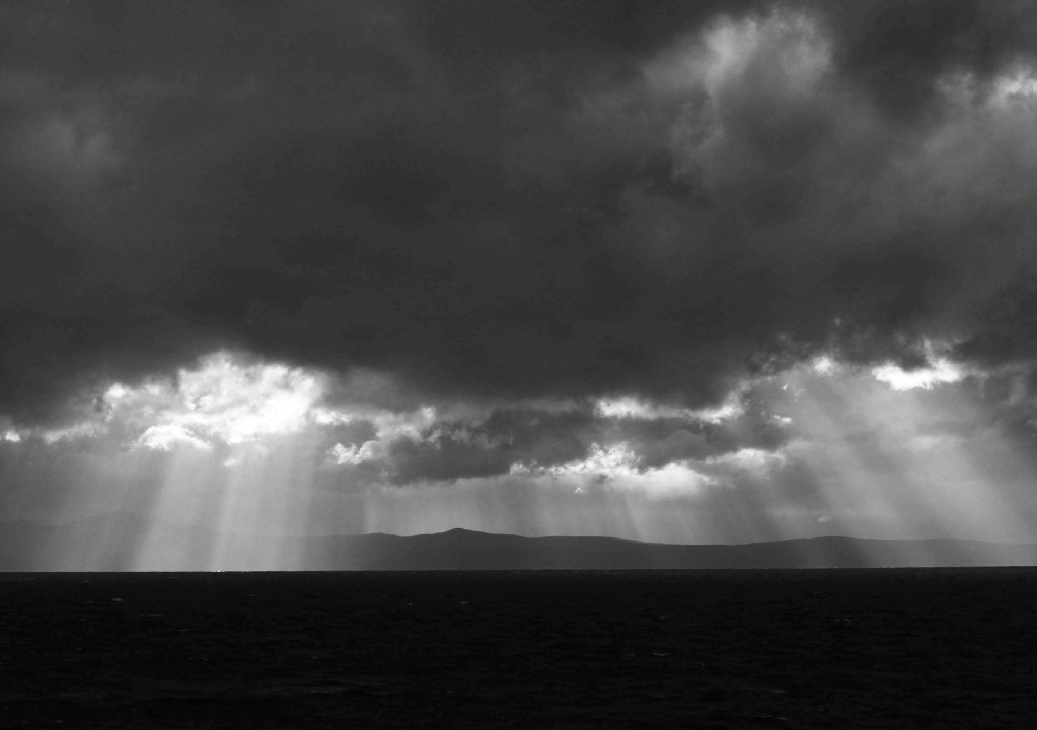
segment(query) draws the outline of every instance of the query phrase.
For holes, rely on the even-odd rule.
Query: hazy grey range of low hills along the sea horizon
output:
[[[0,524],[0,571],[622,570],[1037,565],[1037,545],[812,537],[678,545],[615,537],[521,537],[453,529],[263,538],[119,513],[68,525]]]

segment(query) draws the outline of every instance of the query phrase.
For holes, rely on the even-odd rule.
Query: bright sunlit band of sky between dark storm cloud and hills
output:
[[[0,508],[50,522],[135,509],[252,533],[453,520],[661,541],[1031,538],[1028,373],[951,384],[921,372],[822,358],[747,381],[708,413],[630,401],[621,413],[390,411],[357,383],[348,401],[327,372],[218,355],[176,378],[115,384],[74,426],[8,429]]]

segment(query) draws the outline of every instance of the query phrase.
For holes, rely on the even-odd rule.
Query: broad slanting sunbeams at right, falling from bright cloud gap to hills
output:
[[[773,390],[791,419],[787,452],[813,476],[844,530],[885,537],[969,536],[1025,541],[1033,528],[1018,517],[993,454],[1015,480],[1032,473],[989,422],[960,376],[908,378],[894,366],[871,374],[803,368]],[[907,373],[910,375],[912,373]]]

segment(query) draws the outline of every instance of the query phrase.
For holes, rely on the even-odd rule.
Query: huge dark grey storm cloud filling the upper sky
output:
[[[222,345],[427,397],[713,403],[820,349],[916,362],[1034,264],[1033,109],[984,106],[1029,3],[0,12],[23,421]],[[703,76],[710,48],[733,60]]]

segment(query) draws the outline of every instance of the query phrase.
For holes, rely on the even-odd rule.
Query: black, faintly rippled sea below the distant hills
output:
[[[12,727],[1030,727],[1037,569],[7,573]]]

